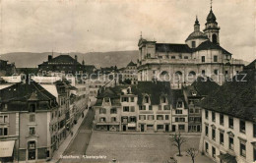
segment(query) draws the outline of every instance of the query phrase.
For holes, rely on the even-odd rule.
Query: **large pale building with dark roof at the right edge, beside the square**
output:
[[[200,103],[200,150],[216,162],[256,161],[256,70],[233,77]]]

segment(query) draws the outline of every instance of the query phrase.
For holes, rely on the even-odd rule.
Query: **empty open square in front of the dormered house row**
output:
[[[85,162],[166,162],[177,148],[171,145],[167,134],[124,134],[94,132]],[[182,150],[199,147],[200,136],[184,136]],[[105,158],[92,158],[105,156]]]

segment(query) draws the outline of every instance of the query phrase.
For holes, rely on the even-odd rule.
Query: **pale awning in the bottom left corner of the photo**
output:
[[[15,140],[0,141],[0,157],[11,157],[13,155]]]

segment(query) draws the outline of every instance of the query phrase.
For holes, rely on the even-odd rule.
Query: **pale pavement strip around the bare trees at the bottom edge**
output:
[[[176,163],[192,163],[191,157],[187,156],[186,152],[181,152],[182,157],[177,156],[178,153],[174,154],[173,158],[177,161]],[[212,159],[208,158],[201,153],[195,157],[196,163],[215,163]]]

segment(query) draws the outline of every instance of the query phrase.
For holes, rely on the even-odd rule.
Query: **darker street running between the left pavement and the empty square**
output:
[[[65,150],[63,155],[80,156],[86,154],[86,150],[92,136],[93,121],[95,111],[89,110],[88,114],[79,128],[77,136],[71,141],[70,146]],[[81,162],[80,159],[61,159],[59,162]]]

